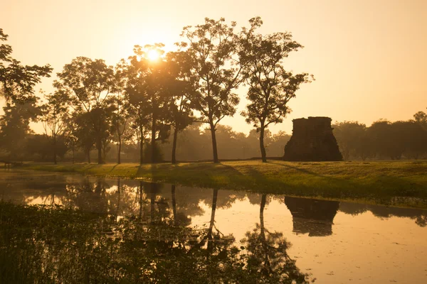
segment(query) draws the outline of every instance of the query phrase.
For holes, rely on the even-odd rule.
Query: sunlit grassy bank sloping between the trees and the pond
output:
[[[230,190],[427,207],[427,161],[292,163],[257,160],[172,165],[41,164],[21,168]]]

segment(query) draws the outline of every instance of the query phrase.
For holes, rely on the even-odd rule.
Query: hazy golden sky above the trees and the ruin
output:
[[[261,33],[289,31],[305,46],[285,60],[287,70],[308,72],[291,99],[283,124],[292,119],[330,116],[332,121],[411,119],[427,107],[427,0],[1,0],[0,28],[9,34],[14,58],[26,65],[51,64],[53,76],[36,89],[53,92],[56,72],[73,58],[104,59],[115,65],[133,45],[164,43],[173,50],[184,26],[204,18],[236,21],[260,16]],[[222,124],[248,133],[241,103]],[[0,103],[1,104],[1,103]],[[34,126],[36,131],[41,129]]]

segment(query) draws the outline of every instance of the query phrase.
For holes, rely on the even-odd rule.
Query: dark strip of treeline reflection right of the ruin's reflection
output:
[[[427,211],[421,209],[341,202],[339,204],[339,211],[345,214],[352,214],[353,216],[370,211],[374,216],[381,219],[390,217],[411,218],[415,219],[415,223],[418,226],[427,226]]]

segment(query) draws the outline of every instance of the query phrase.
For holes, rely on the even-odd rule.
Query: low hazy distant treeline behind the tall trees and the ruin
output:
[[[344,160],[400,160],[427,158],[427,114],[419,111],[416,119],[390,122],[380,120],[367,127],[357,121],[337,122],[332,127],[337,138],[339,150]],[[212,160],[211,133],[194,123],[178,134],[176,159],[178,161]],[[258,133],[252,130],[248,135],[233,131],[231,126],[218,125],[216,131],[218,156],[220,160],[260,158]],[[284,148],[290,135],[285,131],[272,134],[265,133],[267,157],[279,158],[284,155]],[[172,155],[172,137],[169,136],[158,145],[159,160],[170,161]],[[28,133],[19,146],[21,155],[16,158],[50,162],[53,160],[51,139],[44,134]],[[58,138],[58,156],[61,161],[72,161],[72,149],[64,137]],[[107,162],[117,160],[117,143],[110,143],[106,148]],[[91,159],[96,160],[97,153],[91,151]],[[144,147],[144,158],[149,156],[149,147]],[[87,161],[81,149],[74,154],[76,162]],[[139,145],[125,143],[122,145],[122,162],[139,162]]]

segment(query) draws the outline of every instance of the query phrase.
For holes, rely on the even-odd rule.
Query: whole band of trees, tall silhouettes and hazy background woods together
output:
[[[290,33],[262,35],[259,17],[248,28],[205,19],[184,27],[178,50],[135,45],[134,55],[115,67],[79,57],[65,64],[53,94],[34,94],[52,68],[21,65],[10,45],[0,45],[0,161],[36,160],[91,163],[246,159],[281,157],[290,136],[272,135],[290,112],[288,102],[300,84],[314,80],[292,74],[284,60],[302,45]],[[8,35],[0,28],[0,41]],[[246,109],[253,130],[246,136],[221,126],[236,114],[246,85]],[[334,130],[345,159],[422,158],[426,155],[426,114],[413,121],[337,124]],[[44,133],[33,133],[39,122]]]

